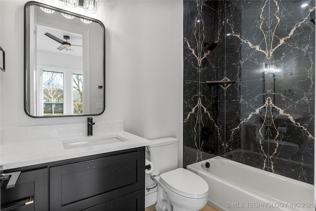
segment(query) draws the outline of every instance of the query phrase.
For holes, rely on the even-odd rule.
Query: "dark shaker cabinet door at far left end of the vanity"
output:
[[[13,188],[6,189],[6,183],[1,187],[1,211],[48,210],[47,168],[22,172]]]

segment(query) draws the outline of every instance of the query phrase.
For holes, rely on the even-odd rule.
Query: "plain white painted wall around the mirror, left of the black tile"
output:
[[[85,123],[86,117],[31,118],[24,112],[24,4],[0,0],[0,125],[23,127]],[[106,110],[94,121],[123,120],[148,139],[179,139],[182,165],[182,0],[99,0],[106,27]]]

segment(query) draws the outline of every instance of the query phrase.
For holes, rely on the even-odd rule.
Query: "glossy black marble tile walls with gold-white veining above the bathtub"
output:
[[[184,166],[224,156],[314,183],[313,10],[315,0],[184,0]],[[221,80],[236,83],[206,83]]]

